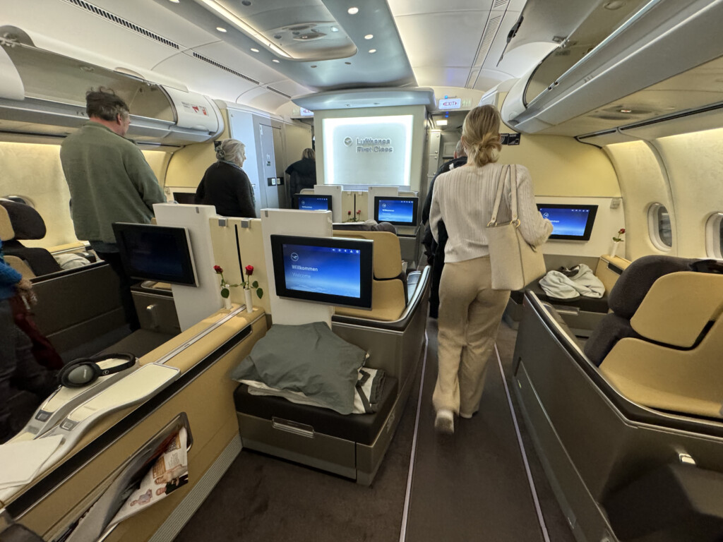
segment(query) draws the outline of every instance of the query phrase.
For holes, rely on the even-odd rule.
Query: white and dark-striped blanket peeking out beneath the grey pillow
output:
[[[379,402],[382,400],[385,377],[385,372],[381,369],[367,369],[366,367],[359,369],[354,389],[354,409],[351,410],[352,414],[368,414],[378,410]],[[314,397],[308,397],[301,392],[278,390],[256,380],[241,380],[239,382],[247,384],[251,395],[273,395],[274,397],[283,397],[291,401],[291,403],[298,403],[299,405],[329,408],[323,401],[315,400]]]

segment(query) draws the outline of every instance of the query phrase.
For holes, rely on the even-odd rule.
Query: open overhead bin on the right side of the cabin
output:
[[[575,57],[572,38],[584,38],[576,30],[510,90],[502,120],[519,132],[578,136],[701,108],[696,91],[716,76],[703,70],[701,79],[696,66],[723,56],[720,17],[722,0],[649,1],[559,69],[560,59]],[[673,77],[675,95],[640,92]],[[704,98],[719,100],[714,92]]]

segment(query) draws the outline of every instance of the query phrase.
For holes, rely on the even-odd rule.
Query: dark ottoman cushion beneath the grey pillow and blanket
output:
[[[382,390],[379,410],[372,414],[339,414],[328,408],[299,405],[283,399],[265,395],[251,395],[246,384],[240,384],[234,392],[236,412],[256,416],[265,420],[283,418],[304,423],[314,431],[335,436],[359,444],[372,444],[384,426],[398,393],[398,380],[387,376]],[[243,434],[241,434],[243,437]]]

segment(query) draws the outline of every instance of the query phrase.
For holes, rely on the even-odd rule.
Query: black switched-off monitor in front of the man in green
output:
[[[116,222],[113,231],[129,277],[198,285],[186,228]]]

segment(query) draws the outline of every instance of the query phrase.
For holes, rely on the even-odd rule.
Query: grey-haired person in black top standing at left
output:
[[[196,189],[196,203],[213,205],[222,216],[256,218],[254,188],[241,169],[246,146],[236,139],[223,139],[216,158],[218,162],[208,167]]]

